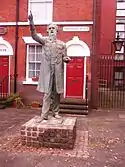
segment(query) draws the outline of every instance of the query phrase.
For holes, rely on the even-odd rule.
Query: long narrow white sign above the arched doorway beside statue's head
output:
[[[63,31],[90,31],[89,26],[64,26]]]

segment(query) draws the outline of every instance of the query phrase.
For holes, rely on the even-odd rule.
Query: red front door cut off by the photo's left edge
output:
[[[8,93],[9,57],[0,56],[0,94]]]

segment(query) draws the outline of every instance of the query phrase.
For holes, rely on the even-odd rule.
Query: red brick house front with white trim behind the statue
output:
[[[41,46],[30,36],[29,10],[33,12],[39,35],[47,36],[47,24],[55,22],[59,26],[58,38],[67,44],[67,52],[72,62],[65,66],[64,98],[84,99],[85,76],[88,75],[89,99],[93,106],[96,106],[97,61],[98,56],[110,55],[111,42],[115,38],[116,1],[3,1],[0,6],[0,61],[3,62],[0,77],[16,73],[16,79],[8,81],[11,86],[4,91],[21,92],[25,102],[41,100],[42,97],[41,93],[36,91],[37,81],[32,80],[39,75]],[[5,68],[4,64],[8,68]]]

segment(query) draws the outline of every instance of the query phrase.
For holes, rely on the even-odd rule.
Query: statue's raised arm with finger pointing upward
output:
[[[33,15],[32,15],[31,11],[30,11],[30,15],[28,16],[28,19],[29,19],[29,23],[30,23],[30,31],[31,31],[32,38],[35,41],[39,42],[41,45],[44,45],[45,44],[44,38],[39,37],[36,33],[36,29],[35,29],[35,25],[34,25],[34,21],[33,21]]]

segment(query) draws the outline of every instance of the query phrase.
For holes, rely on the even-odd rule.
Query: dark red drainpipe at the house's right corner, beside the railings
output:
[[[101,0],[93,0],[93,32],[92,32],[92,64],[91,64],[91,109],[98,105],[98,54],[100,35],[100,9]],[[98,14],[97,14],[98,12]],[[97,23],[98,21],[98,23]],[[97,31],[98,28],[98,31]],[[98,49],[98,51],[97,51]]]

